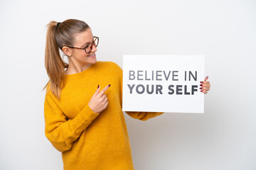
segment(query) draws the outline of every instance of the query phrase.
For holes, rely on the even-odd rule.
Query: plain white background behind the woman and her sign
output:
[[[100,37],[97,59],[206,55],[205,114],[145,122],[124,113],[138,170],[256,169],[256,2],[1,1],[0,169],[63,169],[44,134],[46,24],[78,18]],[[157,60],[156,62],[161,62]]]

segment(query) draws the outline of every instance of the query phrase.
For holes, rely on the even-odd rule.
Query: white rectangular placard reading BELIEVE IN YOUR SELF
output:
[[[122,111],[204,113],[204,55],[124,55]]]

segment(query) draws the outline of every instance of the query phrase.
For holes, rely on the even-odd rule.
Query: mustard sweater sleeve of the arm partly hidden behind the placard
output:
[[[121,101],[121,106],[122,106],[122,81],[123,81],[123,70],[121,67],[119,67],[117,65],[119,71],[119,81],[120,81],[120,101]],[[149,120],[150,118],[154,118],[158,115],[163,114],[164,112],[136,112],[136,111],[125,111],[125,113],[127,113],[129,116],[131,116],[132,118],[138,119],[138,120]]]

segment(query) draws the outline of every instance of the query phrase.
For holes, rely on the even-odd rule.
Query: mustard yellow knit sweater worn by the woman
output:
[[[62,152],[68,170],[132,170],[131,147],[122,112],[122,69],[114,62],[92,64],[89,69],[66,76],[60,101],[49,90],[44,103],[46,137]],[[88,106],[98,84],[108,106],[94,113]],[[47,89],[49,86],[47,86]],[[126,112],[132,118],[148,120],[161,113]]]

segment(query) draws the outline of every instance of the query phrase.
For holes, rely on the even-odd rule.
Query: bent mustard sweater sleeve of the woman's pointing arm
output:
[[[93,112],[86,105],[75,118],[68,120],[53,97],[46,94],[44,103],[46,137],[58,151],[67,151],[71,149],[73,142],[80,137],[81,132],[90,125],[97,115],[99,113]]]

